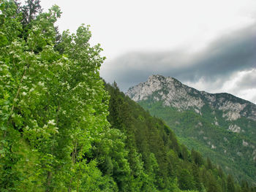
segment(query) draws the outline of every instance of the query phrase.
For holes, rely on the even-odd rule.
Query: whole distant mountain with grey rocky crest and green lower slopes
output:
[[[228,93],[206,93],[172,77],[152,75],[127,96],[162,118],[179,140],[237,180],[256,180],[256,105]]]

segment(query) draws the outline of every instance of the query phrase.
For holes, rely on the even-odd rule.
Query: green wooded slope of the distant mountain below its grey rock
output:
[[[165,120],[184,145],[208,156],[221,165],[226,173],[233,173],[237,180],[246,179],[255,185],[253,146],[256,146],[256,142],[255,133],[250,132],[256,127],[255,120],[239,118],[228,121],[222,118],[222,111],[214,111],[207,106],[203,107],[200,115],[195,110],[179,112],[174,107],[163,106],[162,101],[148,99],[139,101],[139,104],[151,115]],[[218,124],[215,125],[215,122]],[[229,126],[233,124],[244,128],[244,131],[229,131]]]

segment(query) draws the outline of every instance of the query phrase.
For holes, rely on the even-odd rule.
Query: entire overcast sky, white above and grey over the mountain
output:
[[[58,4],[58,25],[91,26],[107,57],[100,74],[122,91],[151,74],[256,103],[255,0],[41,0]]]

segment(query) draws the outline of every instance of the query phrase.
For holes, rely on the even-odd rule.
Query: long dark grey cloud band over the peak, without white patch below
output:
[[[116,80],[123,91],[145,81],[151,74],[190,82],[201,78],[207,82],[216,82],[219,78],[227,80],[235,72],[256,69],[256,25],[219,37],[194,55],[186,50],[134,52],[121,55],[106,65],[108,72],[103,73],[103,78],[109,82]]]

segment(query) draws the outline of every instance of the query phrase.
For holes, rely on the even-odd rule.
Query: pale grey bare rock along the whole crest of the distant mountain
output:
[[[127,96],[134,101],[162,101],[165,106],[175,107],[179,111],[195,110],[198,114],[208,104],[213,110],[222,110],[222,117],[226,120],[237,120],[241,117],[256,120],[255,104],[228,93],[197,91],[172,77],[151,75],[146,82],[129,88]]]

